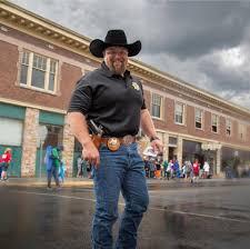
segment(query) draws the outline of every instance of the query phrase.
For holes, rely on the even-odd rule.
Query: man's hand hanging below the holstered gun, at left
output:
[[[92,140],[89,140],[83,145],[82,158],[96,168],[100,165],[100,153]]]

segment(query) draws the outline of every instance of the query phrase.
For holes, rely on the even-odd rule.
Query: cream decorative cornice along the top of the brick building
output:
[[[93,62],[101,61],[89,52],[89,43],[91,41],[89,38],[22,9],[10,1],[0,0],[0,21],[7,27],[84,56]],[[221,110],[231,110],[238,114],[250,117],[250,110],[220,99],[216,94],[198,89],[183,80],[162,72],[141,61],[130,59],[128,67],[129,70],[142,80],[151,81],[162,87],[162,90],[164,91],[168,91],[168,89],[174,90],[183,96],[186,94],[193,99],[206,101],[208,104],[210,103],[220,107]]]

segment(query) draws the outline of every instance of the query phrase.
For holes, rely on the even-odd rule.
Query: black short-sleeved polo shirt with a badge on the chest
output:
[[[81,112],[101,124],[104,136],[137,135],[140,111],[146,109],[141,82],[129,71],[113,74],[104,62],[77,83],[68,112]]]

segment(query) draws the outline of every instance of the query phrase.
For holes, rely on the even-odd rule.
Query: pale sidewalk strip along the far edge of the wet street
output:
[[[212,178],[212,179],[199,179],[198,182],[194,185],[199,186],[212,186],[216,182],[221,183],[237,183],[237,182],[250,182],[250,178],[242,178],[242,179],[224,179],[224,178]],[[149,187],[154,186],[168,186],[171,188],[174,187],[187,187],[191,186],[189,179],[147,179],[147,183]],[[46,178],[10,178],[8,182],[0,182],[0,186],[8,185],[8,186],[20,186],[20,187],[46,187],[47,179]],[[54,182],[52,181],[52,186]],[[93,186],[93,180],[88,178],[67,178],[64,187],[86,187],[91,188]]]

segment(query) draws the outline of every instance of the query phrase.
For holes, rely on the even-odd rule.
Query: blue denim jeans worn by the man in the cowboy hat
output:
[[[101,146],[100,159],[99,168],[93,171],[97,203],[92,222],[92,248],[112,248],[112,226],[118,219],[121,191],[126,207],[116,248],[133,249],[137,247],[138,227],[149,203],[144,163],[138,153],[137,143],[121,146],[116,152]]]

